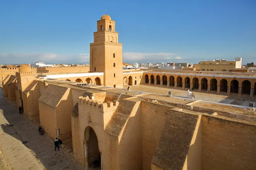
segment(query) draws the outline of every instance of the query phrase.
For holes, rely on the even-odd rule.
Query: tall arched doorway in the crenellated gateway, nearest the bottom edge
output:
[[[85,168],[101,167],[101,154],[99,152],[98,138],[92,127],[88,126],[84,130],[84,163]]]

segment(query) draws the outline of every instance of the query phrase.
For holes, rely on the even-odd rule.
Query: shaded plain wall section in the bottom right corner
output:
[[[202,167],[204,170],[254,170],[256,126],[203,115]]]

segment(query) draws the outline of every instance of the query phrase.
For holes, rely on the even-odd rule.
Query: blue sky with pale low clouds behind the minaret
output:
[[[256,63],[255,0],[2,0],[0,64],[89,63],[96,21],[116,21],[123,62]]]

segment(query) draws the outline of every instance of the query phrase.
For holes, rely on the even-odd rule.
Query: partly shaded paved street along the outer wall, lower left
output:
[[[0,169],[84,170],[68,153],[54,150],[53,141],[3,97],[0,88]]]

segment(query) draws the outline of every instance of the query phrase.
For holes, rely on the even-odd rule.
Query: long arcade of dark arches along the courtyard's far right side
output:
[[[168,74],[144,74],[145,85],[183,88],[189,90],[227,93],[239,95],[256,95],[256,79],[233,77],[200,77]],[[130,79],[130,77],[129,77]],[[131,77],[132,79],[132,77]]]

